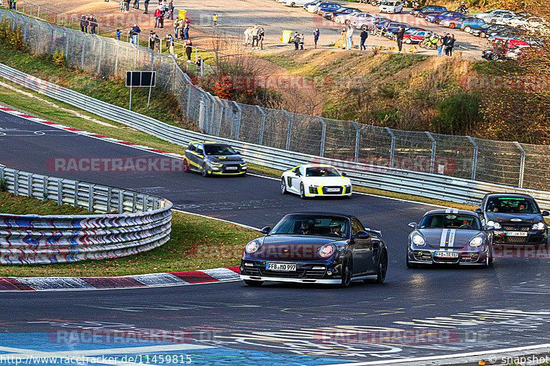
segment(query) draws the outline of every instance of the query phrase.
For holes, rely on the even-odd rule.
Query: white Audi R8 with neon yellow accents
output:
[[[351,196],[351,181],[332,165],[305,164],[287,170],[281,176],[281,193],[316,196]]]

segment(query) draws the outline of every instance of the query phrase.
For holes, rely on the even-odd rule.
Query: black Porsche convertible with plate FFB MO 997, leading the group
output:
[[[261,232],[265,236],[246,244],[241,260],[241,279],[249,286],[274,281],[347,287],[359,279],[382,284],[386,278],[382,234],[355,216],[288,214]]]

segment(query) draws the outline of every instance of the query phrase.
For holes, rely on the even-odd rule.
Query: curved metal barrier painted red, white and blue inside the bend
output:
[[[124,257],[149,251],[170,239],[172,203],[164,198],[3,166],[0,166],[0,180],[17,196],[105,213],[0,214],[0,264],[52,264]]]

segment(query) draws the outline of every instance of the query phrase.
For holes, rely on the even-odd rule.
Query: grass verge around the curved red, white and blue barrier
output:
[[[0,192],[3,214],[87,214],[70,205],[57,206],[36,198]],[[1,266],[0,276],[116,276],[142,273],[196,271],[239,264],[243,246],[256,231],[228,222],[173,213],[170,240],[152,251],[112,260],[86,260],[41,266]]]

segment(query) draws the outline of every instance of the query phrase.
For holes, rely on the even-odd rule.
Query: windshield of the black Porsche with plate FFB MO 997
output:
[[[349,220],[342,216],[289,215],[279,221],[272,234],[349,237]]]

